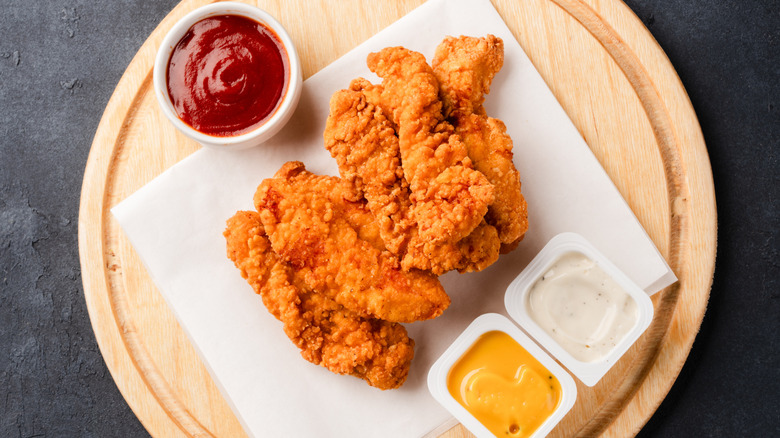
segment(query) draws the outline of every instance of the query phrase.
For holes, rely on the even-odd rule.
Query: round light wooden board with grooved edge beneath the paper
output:
[[[84,291],[98,344],[155,437],[245,436],[109,212],[198,149],[161,114],[151,72],[168,29],[206,3],[178,5],[120,80],[92,144],[79,212]],[[421,1],[256,3],[287,28],[308,77]],[[716,211],[701,130],[663,51],[620,1],[494,4],[680,278],[653,297],[650,329],[610,373],[593,388],[578,384],[577,404],[552,434],[633,435],[677,377],[709,297]],[[444,436],[469,433],[458,426]]]

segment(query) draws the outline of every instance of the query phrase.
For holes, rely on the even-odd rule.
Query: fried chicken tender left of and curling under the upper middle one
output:
[[[365,79],[331,98],[325,147],[339,173],[365,197],[387,249],[401,258],[404,270],[424,269],[440,275],[457,269],[479,271],[498,259],[498,233],[482,221],[458,242],[426,239],[412,218],[413,203],[403,175],[398,138],[384,111],[368,102],[376,87]]]

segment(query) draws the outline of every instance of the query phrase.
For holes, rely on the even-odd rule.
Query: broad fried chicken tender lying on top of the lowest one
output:
[[[413,322],[434,318],[450,304],[438,278],[403,271],[384,249],[373,214],[350,201],[340,178],[286,163],[263,181],[255,207],[279,257],[306,286],[365,318]]]

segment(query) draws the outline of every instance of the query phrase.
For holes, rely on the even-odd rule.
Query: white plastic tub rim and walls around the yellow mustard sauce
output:
[[[494,435],[466,408],[458,403],[447,390],[447,375],[452,366],[471,348],[481,335],[491,331],[501,331],[511,336],[531,356],[547,368],[561,384],[560,403],[558,403],[555,411],[547,420],[531,435],[532,438],[546,436],[574,406],[574,402],[577,399],[577,385],[569,373],[523,333],[515,323],[498,313],[480,315],[450,344],[428,371],[428,390],[433,398],[444,406],[469,431],[478,437],[493,437]]]

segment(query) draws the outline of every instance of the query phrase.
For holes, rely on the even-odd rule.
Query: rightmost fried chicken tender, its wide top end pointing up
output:
[[[433,71],[439,80],[444,113],[466,145],[474,167],[495,188],[486,220],[498,230],[501,251],[514,249],[528,230],[520,174],[512,161],[512,139],[500,120],[487,117],[482,103],[504,62],[500,38],[448,37],[436,49]]]

